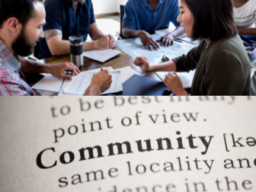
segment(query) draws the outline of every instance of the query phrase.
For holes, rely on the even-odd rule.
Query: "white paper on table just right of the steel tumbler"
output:
[[[116,51],[114,49],[105,49],[105,50],[91,50],[85,51],[84,56],[93,60],[97,60],[99,62],[104,63],[108,59],[116,57],[121,54],[121,51]]]

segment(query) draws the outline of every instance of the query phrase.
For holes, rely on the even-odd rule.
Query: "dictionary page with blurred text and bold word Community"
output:
[[[256,98],[1,97],[0,191],[256,191]]]

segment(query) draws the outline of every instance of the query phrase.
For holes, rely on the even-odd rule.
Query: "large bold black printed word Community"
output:
[[[180,132],[177,131],[176,134],[180,135]],[[186,139],[190,146],[190,149],[196,149],[196,148],[203,149],[204,148],[204,151],[202,151],[201,154],[205,155],[208,151],[208,148],[210,146],[212,138],[213,138],[213,136],[208,136],[208,138],[206,138],[206,136],[193,137],[193,135],[188,135],[188,137]],[[185,140],[185,139],[183,139],[183,140]],[[185,149],[185,147],[183,145],[183,140],[182,140],[182,137],[178,137],[178,138],[176,138],[175,145],[173,145],[174,142],[171,143],[171,140],[169,138],[158,138],[156,140],[157,141],[157,150],[156,151],[173,150],[174,146],[178,150]],[[201,141],[201,145],[195,146],[194,140],[196,140],[197,143],[199,143],[199,141]],[[138,141],[135,141],[135,143],[137,143],[138,152],[150,152],[150,151],[155,150],[152,147],[152,144],[151,144],[152,142],[150,139],[144,140],[144,142],[141,140],[138,140]],[[146,145],[146,148],[145,148],[145,145]],[[115,146],[115,148],[114,148],[114,146]],[[164,149],[164,146],[166,146],[165,149]],[[124,141],[123,143],[110,143],[107,145],[107,147],[108,147],[108,156],[124,154],[123,149],[126,149],[126,154],[133,153],[132,146],[130,145],[129,141]],[[124,148],[122,148],[122,147],[124,147]],[[81,148],[78,151],[79,151],[79,156],[80,156],[79,162],[87,160],[87,158],[88,159],[95,158],[94,152],[96,152],[96,151],[98,152],[98,158],[104,157],[104,155],[103,155],[104,153],[102,153],[102,148],[99,145],[94,146],[93,148],[91,148],[91,147]],[[85,151],[87,151],[87,154],[88,154],[87,158],[85,157]],[[53,168],[54,166],[57,166],[57,160],[55,160],[55,159],[52,159],[51,165],[43,165],[43,163],[42,163],[42,162],[46,162],[44,158],[47,158],[47,154],[50,154],[52,152],[55,152],[55,148],[44,149],[37,155],[37,166],[39,168],[49,169],[49,168]],[[56,152],[56,153],[59,154],[59,152]],[[66,158],[67,156],[68,156],[68,158]],[[42,159],[42,157],[44,157],[44,158]],[[75,158],[74,152],[65,151],[60,155],[59,160],[60,160],[60,163],[62,163],[62,164],[69,164],[74,161],[74,158]]]

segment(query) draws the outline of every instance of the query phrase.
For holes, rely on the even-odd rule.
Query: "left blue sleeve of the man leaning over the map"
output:
[[[124,7],[123,29],[126,27],[135,30],[137,29],[135,9],[132,9],[130,7],[129,1],[126,3],[126,6]]]

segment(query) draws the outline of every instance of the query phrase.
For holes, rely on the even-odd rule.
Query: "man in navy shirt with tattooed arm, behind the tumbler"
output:
[[[45,38],[35,48],[35,57],[43,59],[52,55],[70,54],[68,38],[80,35],[84,38],[84,51],[112,49],[115,39],[98,29],[91,0],[46,0]],[[93,41],[87,41],[90,35]]]

